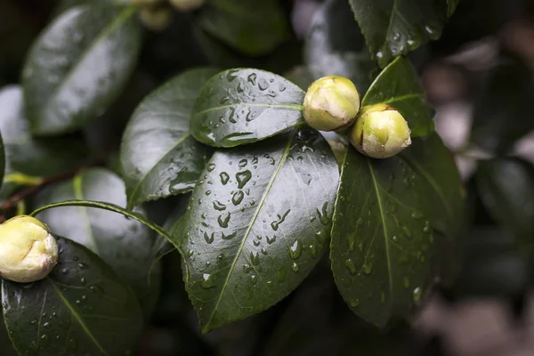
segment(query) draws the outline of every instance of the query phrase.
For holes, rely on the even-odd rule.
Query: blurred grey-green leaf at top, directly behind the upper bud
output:
[[[315,12],[304,61],[314,79],[348,77],[360,93],[368,90],[376,64],[346,0],[328,0]]]

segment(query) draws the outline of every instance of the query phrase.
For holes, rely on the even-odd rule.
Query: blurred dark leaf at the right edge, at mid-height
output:
[[[480,161],[475,178],[484,206],[528,252],[534,236],[534,166],[518,158]]]

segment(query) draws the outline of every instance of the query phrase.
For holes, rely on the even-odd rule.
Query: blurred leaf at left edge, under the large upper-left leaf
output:
[[[2,195],[20,185],[12,174],[50,176],[80,166],[85,157],[83,143],[53,138],[36,139],[29,133],[24,115],[22,88],[9,85],[0,90],[0,131],[5,146],[5,187]]]

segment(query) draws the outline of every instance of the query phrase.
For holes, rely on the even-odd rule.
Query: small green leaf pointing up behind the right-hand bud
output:
[[[362,105],[385,103],[399,110],[408,121],[412,137],[433,132],[433,108],[425,100],[416,69],[409,60],[397,58],[387,66],[369,88]]]

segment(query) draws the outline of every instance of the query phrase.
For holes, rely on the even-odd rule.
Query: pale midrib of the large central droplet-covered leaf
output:
[[[286,162],[287,155],[289,153],[289,150],[291,148],[291,142],[293,142],[293,139],[295,138],[295,134],[298,130],[294,130],[293,133],[289,136],[289,139],[287,140],[287,145],[284,151],[282,152],[282,155],[280,156],[279,164],[274,170],[271,181],[267,184],[267,187],[265,189],[265,192],[263,193],[262,198],[260,199],[260,203],[258,204],[258,207],[255,210],[255,214],[252,216],[252,219],[250,220],[250,223],[248,224],[247,231],[245,231],[245,235],[243,236],[243,239],[241,241],[241,245],[239,245],[239,250],[237,255],[235,256],[233,262],[231,263],[230,270],[228,271],[228,275],[226,276],[226,279],[224,280],[223,288],[221,289],[221,293],[219,294],[219,298],[217,299],[217,303],[215,303],[214,310],[209,318],[209,320],[206,323],[206,326],[203,328],[204,331],[206,331],[209,328],[209,325],[211,324],[211,321],[214,319],[215,312],[217,312],[217,309],[219,308],[219,304],[221,303],[221,300],[223,299],[224,291],[226,290],[226,287],[228,287],[228,281],[230,280],[231,274],[235,268],[236,263],[238,262],[239,255],[241,255],[241,252],[243,251],[243,247],[245,246],[245,242],[247,241],[248,235],[250,234],[250,231],[252,231],[252,227],[255,224],[255,221],[260,214],[260,211],[262,210],[263,204],[265,203],[265,200],[267,199],[267,196],[269,194],[269,191],[271,190],[271,187],[276,180],[276,177],[279,174],[280,169],[282,166],[284,166],[284,163]]]

